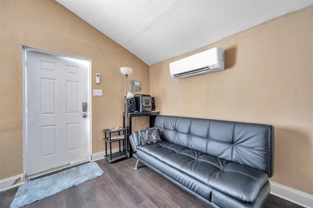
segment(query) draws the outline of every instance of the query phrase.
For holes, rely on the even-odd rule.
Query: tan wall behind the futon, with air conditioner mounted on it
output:
[[[313,194],[313,7],[150,66],[163,115],[275,126],[273,182]],[[172,79],[169,63],[220,46],[226,70]]]

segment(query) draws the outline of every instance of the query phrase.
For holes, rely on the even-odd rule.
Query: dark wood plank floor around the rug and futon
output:
[[[135,159],[109,164],[98,160],[104,174],[23,208],[208,208]],[[18,188],[0,193],[0,208],[9,208]],[[301,208],[270,195],[266,208]]]

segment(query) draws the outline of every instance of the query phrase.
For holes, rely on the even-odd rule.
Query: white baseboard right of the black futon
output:
[[[275,182],[270,183],[270,194],[290,201],[304,208],[313,208],[313,195]]]

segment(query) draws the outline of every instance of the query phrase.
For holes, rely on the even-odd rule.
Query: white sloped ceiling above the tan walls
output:
[[[313,0],[56,0],[148,65],[313,5]]]

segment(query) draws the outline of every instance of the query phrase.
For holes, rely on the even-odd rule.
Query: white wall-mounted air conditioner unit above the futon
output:
[[[186,78],[224,70],[224,50],[215,47],[170,63],[172,78]]]

